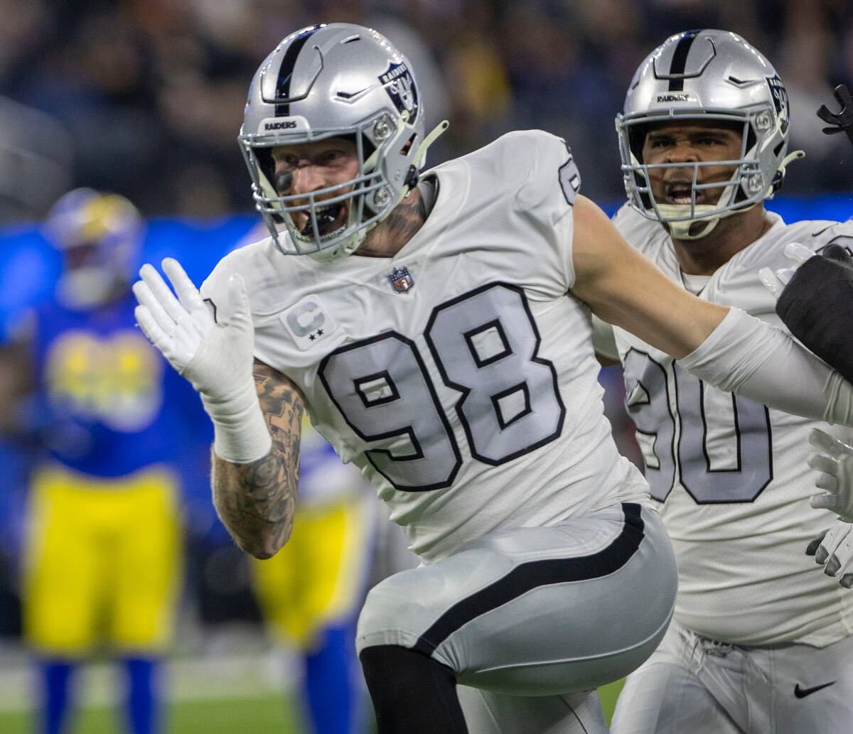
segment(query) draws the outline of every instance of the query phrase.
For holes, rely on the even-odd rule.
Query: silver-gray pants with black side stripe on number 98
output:
[[[657,512],[612,506],[392,575],[368,594],[357,650],[402,645],[453,670],[471,734],[599,734],[595,688],[657,647],[676,583]]]

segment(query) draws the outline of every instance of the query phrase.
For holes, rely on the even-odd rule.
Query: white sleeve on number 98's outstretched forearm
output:
[[[853,385],[786,332],[740,309],[729,309],[678,364],[721,390],[786,413],[853,425]]]

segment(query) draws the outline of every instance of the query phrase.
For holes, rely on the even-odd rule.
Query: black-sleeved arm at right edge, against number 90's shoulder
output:
[[[846,248],[827,245],[800,265],[776,313],[809,350],[853,382],[853,257]]]

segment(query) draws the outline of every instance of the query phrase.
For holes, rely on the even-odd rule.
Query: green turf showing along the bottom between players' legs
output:
[[[622,682],[599,690],[601,705],[610,722]],[[302,734],[292,703],[284,696],[189,700],[171,703],[166,734]],[[69,734],[119,734],[126,731],[114,708],[84,708]],[[32,734],[31,714],[0,711],[3,734]]]

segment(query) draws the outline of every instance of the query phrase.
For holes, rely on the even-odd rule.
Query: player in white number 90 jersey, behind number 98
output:
[[[774,326],[759,269],[789,265],[788,243],[853,244],[853,223],[786,224],[765,210],[802,154],[787,153],[788,125],[773,66],[716,30],[654,49],[617,118],[629,201],[613,222],[624,238],[684,290]],[[804,551],[833,521],[809,507],[809,431],[850,442],[850,430],[719,390],[624,327],[609,344],[598,327],[596,349],[624,367],[679,581],[670,628],[629,676],[612,730],[849,732],[853,598]]]

